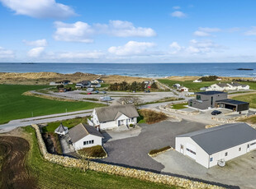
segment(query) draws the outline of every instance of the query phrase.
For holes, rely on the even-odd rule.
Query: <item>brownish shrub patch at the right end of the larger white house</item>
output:
[[[149,109],[140,109],[139,113],[140,113],[140,115],[142,115],[145,122],[149,123],[149,124],[152,124],[155,122],[161,122],[167,118],[165,113],[156,112],[156,111],[149,110]]]

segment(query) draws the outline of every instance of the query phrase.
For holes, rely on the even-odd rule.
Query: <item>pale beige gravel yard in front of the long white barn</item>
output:
[[[205,168],[175,150],[159,154],[153,159],[164,165],[162,173],[197,177],[240,188],[256,188],[256,150],[226,162],[224,168],[219,166]]]

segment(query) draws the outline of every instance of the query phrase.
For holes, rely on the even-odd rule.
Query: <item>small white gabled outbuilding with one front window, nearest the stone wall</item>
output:
[[[69,136],[75,150],[102,145],[102,134],[95,127],[83,123],[69,129]]]

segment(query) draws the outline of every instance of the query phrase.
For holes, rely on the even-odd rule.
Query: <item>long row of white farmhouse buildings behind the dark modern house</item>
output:
[[[217,90],[217,91],[224,91],[224,90],[249,90],[249,85],[243,85],[239,83],[216,83],[209,86],[206,91],[209,90]]]

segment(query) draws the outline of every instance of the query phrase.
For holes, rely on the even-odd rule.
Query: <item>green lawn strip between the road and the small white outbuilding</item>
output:
[[[72,127],[75,127],[76,125],[78,125],[80,122],[87,123],[88,118],[89,117],[73,118],[73,119],[63,120],[61,122],[64,125],[64,127],[72,128]],[[57,127],[59,127],[61,122],[60,121],[59,122],[49,122],[46,127],[43,127],[43,131],[54,132],[55,129]]]

